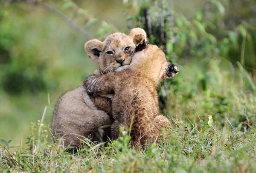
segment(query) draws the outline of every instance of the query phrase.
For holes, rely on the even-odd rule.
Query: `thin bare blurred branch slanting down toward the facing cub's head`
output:
[[[83,29],[81,29],[79,26],[77,26],[76,23],[73,23],[72,20],[70,20],[65,14],[61,13],[57,9],[54,9],[51,6],[48,6],[47,4],[41,3],[41,2],[39,2],[37,0],[28,0],[27,2],[30,3],[30,4],[36,5],[36,6],[40,6],[40,7],[44,8],[44,9],[46,9],[48,12],[52,12],[52,13],[57,14],[69,26],[71,26],[74,30],[76,30],[76,32],[78,32],[79,34],[83,35],[84,37],[87,37],[88,39],[92,39],[93,38],[90,34],[88,34]]]

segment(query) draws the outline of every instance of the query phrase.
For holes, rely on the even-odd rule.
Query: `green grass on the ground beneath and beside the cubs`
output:
[[[211,67],[215,68],[215,65],[212,62]],[[190,67],[192,71],[197,68]],[[255,92],[245,90],[250,81],[247,83],[247,76],[242,71],[236,71],[243,79],[242,83],[237,83],[236,80],[230,80],[230,69],[218,70],[209,69],[209,88],[195,88],[195,93],[190,91],[190,98],[186,88],[193,88],[193,81],[198,84],[198,78],[184,75],[184,72],[177,76],[177,80],[180,78],[183,83],[178,82],[179,89],[172,86],[176,92],[168,98],[173,100],[167,111],[172,115],[172,127],[166,131],[166,138],[149,144],[146,150],[130,147],[129,136],[122,131],[123,136],[117,141],[104,144],[84,139],[86,147],[83,150],[67,153],[49,140],[50,129],[48,124],[44,124],[44,118],[48,116],[45,111],[49,109],[46,107],[41,120],[32,124],[31,135],[25,140],[26,146],[12,146],[7,140],[1,140],[1,170],[255,172]],[[216,72],[225,74],[221,75],[221,84],[216,84],[212,79],[216,77]]]

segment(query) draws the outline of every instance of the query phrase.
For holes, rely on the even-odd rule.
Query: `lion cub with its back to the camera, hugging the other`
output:
[[[132,32],[132,31],[131,31]],[[137,42],[134,37],[134,42]],[[104,95],[114,92],[112,99],[113,124],[111,138],[117,139],[119,127],[129,130],[135,147],[154,142],[169,127],[169,120],[159,115],[157,84],[175,76],[179,69],[166,61],[165,54],[155,45],[134,53],[131,65],[119,73],[89,76],[84,81],[87,92]]]

